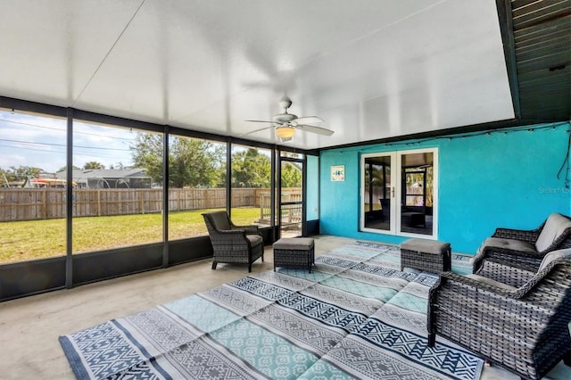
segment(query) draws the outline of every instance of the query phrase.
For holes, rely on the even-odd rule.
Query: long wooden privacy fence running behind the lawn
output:
[[[301,189],[295,189],[301,194]],[[232,189],[232,207],[261,207],[267,188]],[[74,189],[73,216],[95,217],[161,212],[162,189]],[[169,190],[169,211],[226,207],[225,188]],[[65,189],[0,189],[0,221],[65,218]],[[261,212],[263,214],[263,212]]]

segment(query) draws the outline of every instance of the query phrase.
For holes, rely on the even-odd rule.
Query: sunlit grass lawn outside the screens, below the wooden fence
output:
[[[206,235],[203,212],[169,215],[169,237]],[[260,219],[260,208],[232,210],[236,225]],[[120,215],[73,219],[73,252],[100,251],[120,246],[161,242],[162,215]],[[65,254],[65,219],[0,223],[0,263],[41,259]]]

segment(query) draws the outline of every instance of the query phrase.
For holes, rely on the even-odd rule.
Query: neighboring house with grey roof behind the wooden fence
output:
[[[65,178],[66,172],[56,173],[57,178]],[[76,169],[71,178],[78,188],[151,188],[152,178],[143,168],[134,169]]]

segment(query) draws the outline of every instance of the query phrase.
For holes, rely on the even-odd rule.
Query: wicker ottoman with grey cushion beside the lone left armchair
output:
[[[309,269],[315,260],[313,239],[310,237],[282,238],[274,243],[276,267]]]

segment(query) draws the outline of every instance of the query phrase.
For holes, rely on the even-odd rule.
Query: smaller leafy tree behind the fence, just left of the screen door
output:
[[[232,186],[269,187],[271,163],[257,149],[248,148],[232,154]]]

